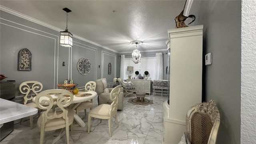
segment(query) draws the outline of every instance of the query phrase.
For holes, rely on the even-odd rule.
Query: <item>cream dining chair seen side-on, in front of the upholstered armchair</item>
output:
[[[111,104],[100,104],[92,109],[88,114],[88,134],[90,133],[91,127],[91,117],[100,118],[100,122],[102,119],[108,119],[108,129],[109,129],[109,136],[112,136],[111,133],[111,120],[114,116],[116,118],[116,126],[118,127],[118,120],[117,120],[117,105],[118,105],[118,97],[120,94],[121,85],[116,86],[110,92],[110,100],[112,100]]]

